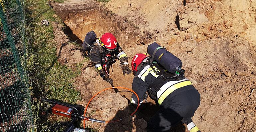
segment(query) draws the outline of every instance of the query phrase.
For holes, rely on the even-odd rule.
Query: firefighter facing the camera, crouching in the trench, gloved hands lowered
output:
[[[132,73],[129,69],[128,58],[118,44],[115,36],[111,33],[104,33],[95,40],[90,50],[90,59],[101,74],[101,77],[113,86],[113,80],[109,78],[110,65],[115,63],[115,58],[120,60],[123,75]]]

